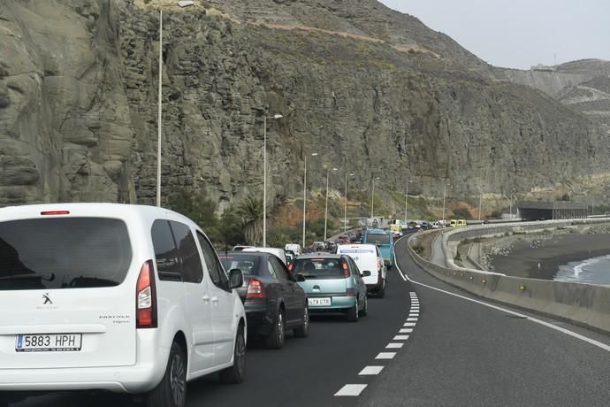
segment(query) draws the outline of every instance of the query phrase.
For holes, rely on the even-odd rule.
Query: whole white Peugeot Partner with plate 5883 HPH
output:
[[[202,230],[176,212],[0,209],[0,259],[0,404],[106,389],[180,407],[189,380],[243,380],[246,314],[233,289],[243,275],[227,277]]]

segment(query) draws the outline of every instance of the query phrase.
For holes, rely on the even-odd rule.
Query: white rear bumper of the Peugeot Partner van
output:
[[[4,368],[0,361],[0,391],[147,392],[163,378],[170,353],[169,348],[156,345],[156,335],[152,331],[140,335],[138,362],[131,366],[14,369]]]

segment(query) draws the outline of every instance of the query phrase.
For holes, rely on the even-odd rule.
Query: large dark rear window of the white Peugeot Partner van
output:
[[[118,219],[0,222],[0,290],[118,286],[132,260]]]

